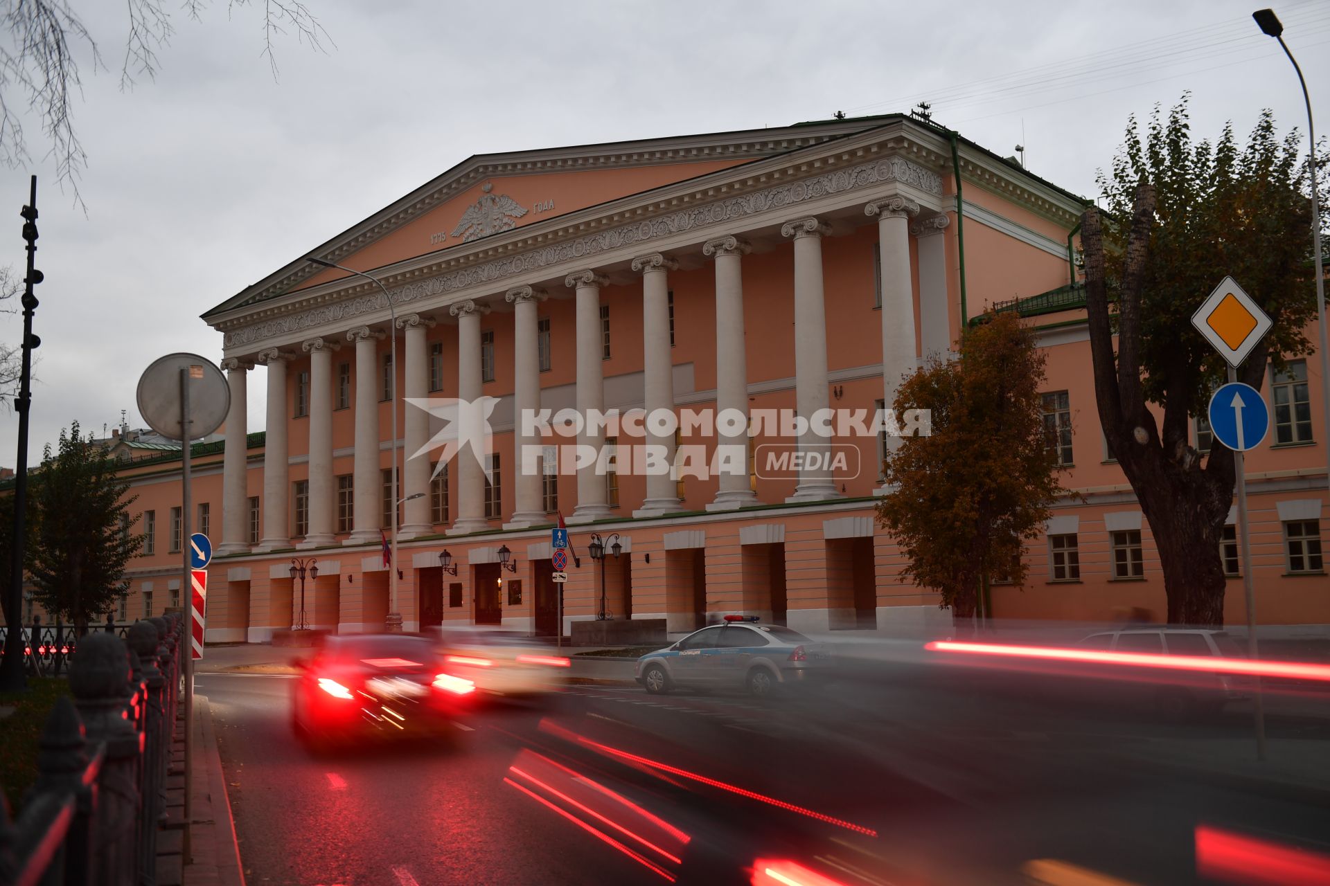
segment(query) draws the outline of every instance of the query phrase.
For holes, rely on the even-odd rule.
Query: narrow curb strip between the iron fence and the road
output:
[[[239,841],[235,838],[235,818],[231,816],[231,801],[226,793],[226,773],[222,770],[222,754],[217,748],[217,733],[213,729],[213,709],[206,695],[194,696],[194,716],[198,719],[198,747],[194,768],[203,772],[201,781],[205,806],[194,805],[190,821],[190,855],[185,865],[182,881],[185,886],[245,886],[245,867],[241,863]],[[200,793],[200,780],[194,790]]]

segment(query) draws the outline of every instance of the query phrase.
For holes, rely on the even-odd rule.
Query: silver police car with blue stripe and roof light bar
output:
[[[653,695],[676,687],[745,688],[763,697],[793,684],[826,679],[835,663],[825,643],[755,615],[726,615],[674,646],[637,659],[636,680]]]

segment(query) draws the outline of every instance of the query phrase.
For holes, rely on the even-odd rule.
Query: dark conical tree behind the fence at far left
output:
[[[28,478],[27,566],[33,596],[52,615],[77,627],[108,612],[124,590],[125,566],[144,537],[129,515],[129,482],[117,462],[78,422],[60,432],[59,450],[48,445],[43,465]]]

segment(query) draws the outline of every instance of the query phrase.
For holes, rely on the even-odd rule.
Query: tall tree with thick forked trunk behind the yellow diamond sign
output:
[[[1232,125],[1214,145],[1193,142],[1184,96],[1166,120],[1156,108],[1144,134],[1133,118],[1100,174],[1117,222],[1097,209],[1081,221],[1099,417],[1158,546],[1170,623],[1224,623],[1220,539],[1236,478],[1222,444],[1208,456],[1189,445],[1226,372],[1192,315],[1225,275],[1261,304],[1274,327],[1238,369],[1257,389],[1269,364],[1310,349],[1311,181],[1298,145],[1295,130],[1277,137],[1269,112],[1245,146]]]

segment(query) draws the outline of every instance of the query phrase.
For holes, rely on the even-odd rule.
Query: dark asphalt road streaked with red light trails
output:
[[[1150,765],[1246,753],[1241,708],[1178,725],[1060,689],[919,663],[775,701],[585,685],[477,709],[447,741],[313,756],[287,679],[198,677],[250,883],[747,883],[755,859],[874,886],[1069,883],[1057,871],[1073,866],[1210,882],[1205,826],[1330,858],[1314,778],[1290,790]],[[1287,707],[1270,735],[1323,770],[1317,713]]]

